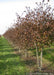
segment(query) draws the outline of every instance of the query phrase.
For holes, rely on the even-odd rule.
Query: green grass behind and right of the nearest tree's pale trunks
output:
[[[36,49],[30,49],[30,51],[36,56]],[[43,65],[46,65],[50,70],[54,70],[54,44],[43,49]]]

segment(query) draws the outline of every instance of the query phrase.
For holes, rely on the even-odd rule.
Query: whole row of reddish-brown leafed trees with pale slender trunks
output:
[[[34,9],[26,7],[25,16],[17,14],[13,28],[9,28],[4,36],[24,50],[36,48],[37,66],[42,68],[43,48],[54,42],[54,9],[48,3],[36,3]],[[40,58],[40,59],[39,59]]]

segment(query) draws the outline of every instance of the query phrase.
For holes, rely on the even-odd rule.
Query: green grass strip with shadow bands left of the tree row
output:
[[[4,38],[0,38],[0,75],[25,75],[25,67],[19,55]]]

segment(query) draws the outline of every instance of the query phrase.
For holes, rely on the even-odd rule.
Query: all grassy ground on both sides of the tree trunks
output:
[[[29,57],[29,60],[21,58],[20,54],[17,54],[17,50],[14,51],[9,42],[4,37],[1,37],[0,75],[26,75],[26,72],[35,72],[36,51],[35,49],[30,49],[28,53],[29,52],[31,56],[35,57],[35,59],[31,59],[31,57]],[[43,49],[43,65],[46,65],[47,70],[54,69],[54,45],[50,48]]]

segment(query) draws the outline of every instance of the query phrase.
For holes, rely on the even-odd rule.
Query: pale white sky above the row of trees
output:
[[[26,6],[35,7],[35,2],[42,0],[0,0],[0,34],[3,34],[8,27],[16,20],[16,12],[22,14]],[[54,6],[54,0],[50,4]]]

